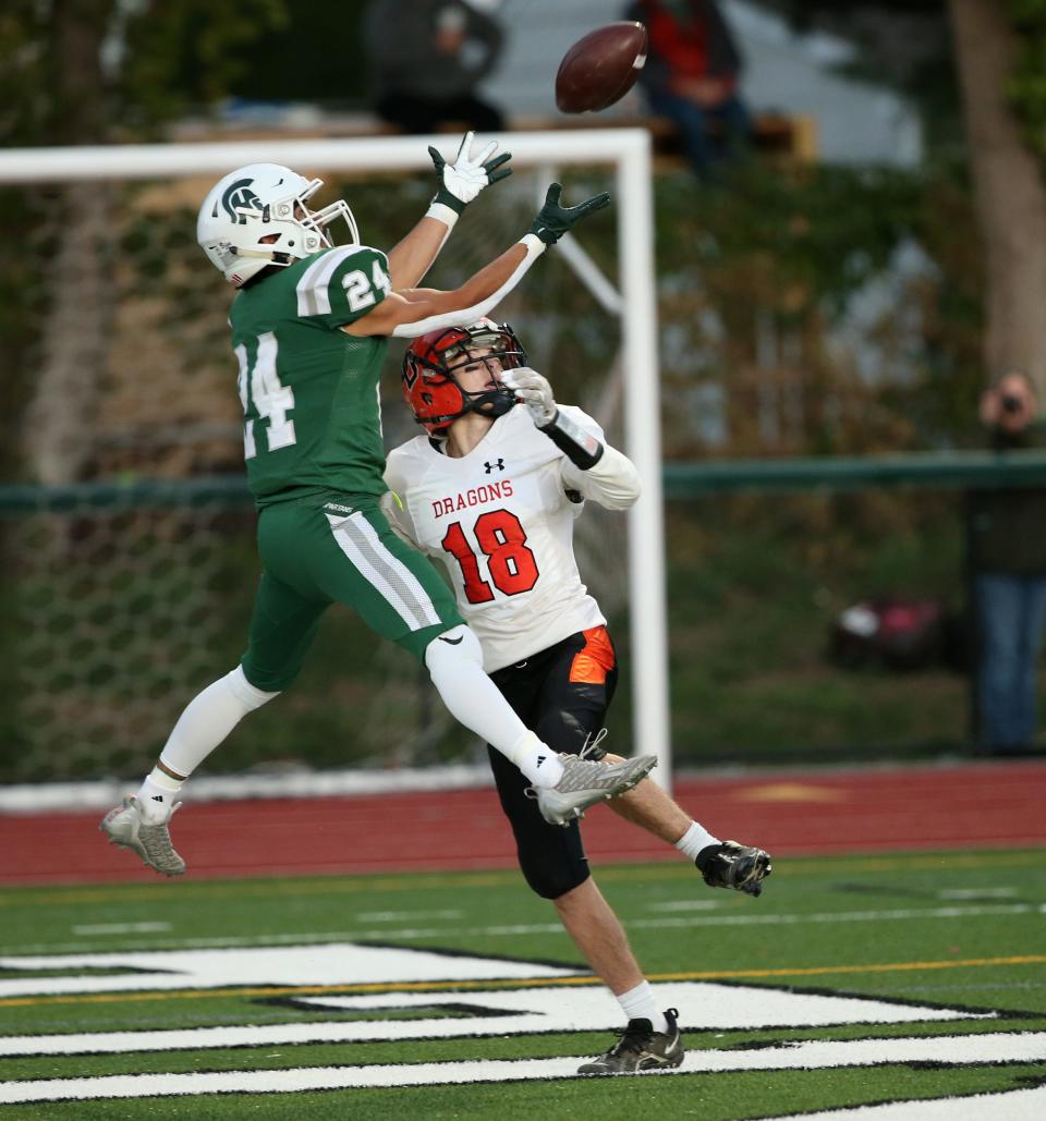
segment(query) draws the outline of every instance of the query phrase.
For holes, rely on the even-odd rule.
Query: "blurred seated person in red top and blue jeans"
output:
[[[751,129],[738,94],[741,53],[715,0],[636,0],[624,18],[647,28],[639,84],[650,112],[675,123],[694,172],[709,178]]]

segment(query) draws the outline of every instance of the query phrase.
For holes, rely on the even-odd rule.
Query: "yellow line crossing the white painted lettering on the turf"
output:
[[[825,973],[898,973],[911,970],[981,969],[991,965],[1043,965],[1046,954],[1021,957],[968,957],[946,962],[890,962],[879,965],[809,965],[784,970],[709,970],[695,973],[651,973],[649,981],[726,981],[734,978],[808,978]],[[485,981],[371,981],[360,984],[267,985],[257,989],[183,989],[157,992],[91,993],[71,997],[9,997],[0,1008],[39,1004],[122,1004],[146,1000],[205,1000],[210,997],[320,997],[330,993],[455,992],[462,989],[545,989],[553,985],[602,984],[596,976],[524,978]]]

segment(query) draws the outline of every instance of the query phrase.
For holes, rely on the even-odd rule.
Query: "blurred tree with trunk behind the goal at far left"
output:
[[[248,64],[244,48],[285,19],[283,0],[15,0],[0,17],[0,142],[91,145],[149,139],[188,106],[221,98]],[[0,330],[9,359],[39,345],[31,385],[6,387],[7,420],[19,415],[33,438],[3,433],[7,455],[21,445],[40,482],[82,476],[109,330],[114,262],[107,256],[112,186],[4,192]],[[43,211],[41,211],[43,207]],[[46,212],[46,213],[44,213]],[[48,234],[48,222],[57,223]],[[59,235],[54,229],[61,228]],[[21,250],[48,239],[46,279]],[[24,303],[46,282],[46,318],[65,330],[37,342]],[[12,361],[12,369],[27,363]]]

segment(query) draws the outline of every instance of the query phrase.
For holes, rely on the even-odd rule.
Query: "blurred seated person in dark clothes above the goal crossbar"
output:
[[[374,72],[374,111],[404,132],[441,124],[480,132],[505,128],[501,111],[474,94],[503,36],[464,0],[373,0],[364,36]]]

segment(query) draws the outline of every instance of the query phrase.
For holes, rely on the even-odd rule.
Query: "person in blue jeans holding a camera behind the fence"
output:
[[[1005,373],[985,390],[980,417],[994,451],[1046,445],[1025,373]],[[993,754],[1027,752],[1046,624],[1046,489],[971,491],[969,518],[978,738]]]

